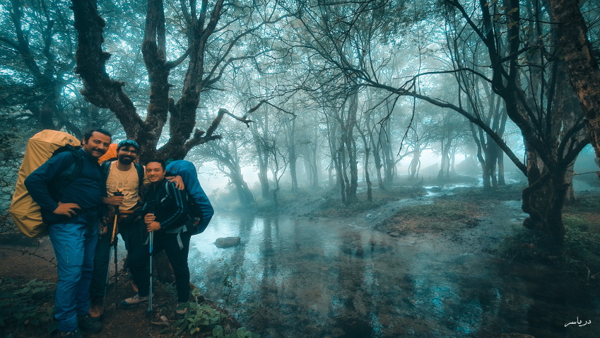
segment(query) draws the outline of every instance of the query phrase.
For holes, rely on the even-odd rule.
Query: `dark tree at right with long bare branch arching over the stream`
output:
[[[524,1],[527,9],[533,8],[527,13],[522,11],[522,4],[518,0],[489,3],[479,1],[466,5],[461,4],[461,1],[446,0],[445,4],[449,16],[455,18],[451,23],[457,32],[472,35],[481,41],[481,46],[485,49],[485,62],[481,59],[481,62],[464,65],[460,69],[417,69],[416,75],[404,83],[381,81],[382,69],[387,63],[384,59],[375,57],[380,53],[374,55],[371,51],[376,49],[375,45],[388,46],[393,43],[384,37],[384,30],[380,26],[371,25],[365,30],[365,26],[361,25],[373,16],[381,19],[378,23],[392,22],[381,11],[391,9],[394,5],[380,1],[330,4],[342,8],[353,6],[351,15],[330,17],[322,12],[318,13],[320,20],[343,26],[343,33],[331,39],[323,33],[327,30],[322,29],[317,33],[314,27],[305,25],[307,33],[304,36],[314,38],[305,45],[315,50],[327,63],[324,69],[330,73],[334,73],[332,69],[336,69],[334,76],[352,78],[356,86],[372,86],[454,110],[486,132],[490,141],[498,144],[517,168],[527,175],[529,187],[523,192],[523,210],[530,217],[524,221],[524,226],[544,235],[548,250],[555,252],[560,249],[565,234],[562,208],[567,192],[567,168],[588,141],[582,138],[582,117],[577,115],[577,111],[570,109],[568,93],[560,91],[563,72],[553,48],[553,27],[546,24],[552,18],[541,10],[540,1],[537,0]],[[305,8],[322,6],[307,5]],[[302,12],[298,20],[305,23],[306,18],[310,17],[308,11],[306,9],[306,12]],[[336,12],[328,8],[325,13]],[[373,22],[376,20],[370,21]],[[529,25],[530,22],[535,22],[536,25]],[[319,27],[324,26],[327,27],[322,23]],[[532,35],[528,33],[532,29],[536,30],[538,37],[547,36],[548,39],[532,39]],[[359,39],[361,35],[364,38]],[[326,45],[323,40],[329,43]],[[352,62],[353,59],[348,57],[349,50],[356,51],[352,57],[358,57],[360,62]],[[502,136],[493,129],[493,124],[488,124],[481,115],[474,113],[472,106],[463,105],[456,98],[449,101],[448,98],[436,98],[432,94],[424,95],[416,90],[419,78],[435,83],[445,74],[457,72],[478,76],[481,81],[489,83],[493,92],[502,98],[507,116],[523,134],[528,151],[527,163],[522,163],[515,156]],[[328,78],[335,78],[334,76]]]

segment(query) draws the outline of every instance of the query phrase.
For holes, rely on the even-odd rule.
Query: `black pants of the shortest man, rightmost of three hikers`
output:
[[[180,248],[176,233],[156,231],[154,233],[153,255],[165,250],[169,263],[175,274],[175,287],[177,288],[177,301],[189,301],[189,267],[187,254],[189,252],[189,233],[182,233]],[[134,283],[138,286],[139,296],[148,296],[150,276],[148,274],[148,245],[143,245],[143,250],[129,249],[129,271],[134,275]]]

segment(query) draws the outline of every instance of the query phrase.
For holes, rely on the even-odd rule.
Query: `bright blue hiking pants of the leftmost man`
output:
[[[59,331],[77,330],[77,316],[88,315],[90,282],[98,242],[98,223],[57,223],[49,226],[57,257],[59,281],[54,298],[54,318]]]

